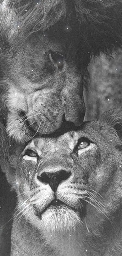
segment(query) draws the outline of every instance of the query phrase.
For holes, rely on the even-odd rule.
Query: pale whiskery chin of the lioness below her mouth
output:
[[[49,207],[41,215],[41,228],[46,237],[74,233],[81,224],[80,214],[66,205]]]

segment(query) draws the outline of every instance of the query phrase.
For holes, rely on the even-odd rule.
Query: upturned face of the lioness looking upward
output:
[[[25,216],[45,236],[91,232],[97,219],[109,218],[121,198],[112,190],[121,168],[117,140],[114,129],[106,127],[104,132],[94,121],[58,138],[31,141],[16,161],[11,157],[17,216]]]

